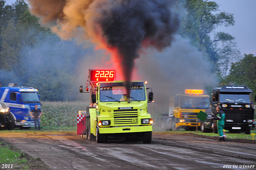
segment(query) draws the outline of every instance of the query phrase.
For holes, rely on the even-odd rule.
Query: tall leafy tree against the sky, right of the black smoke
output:
[[[217,63],[222,60],[223,56],[218,53],[219,51],[223,53],[223,46],[219,49],[218,42],[230,42],[234,40],[234,37],[225,32],[215,33],[214,31],[220,26],[234,26],[233,14],[219,12],[218,4],[208,0],[186,0],[184,7],[186,16],[182,20],[180,33],[182,36],[190,38],[194,46],[209,56],[215,67],[214,71],[217,72]],[[234,46],[232,47],[234,48]],[[230,51],[232,50],[235,49],[230,49]],[[226,54],[227,52],[226,50]]]

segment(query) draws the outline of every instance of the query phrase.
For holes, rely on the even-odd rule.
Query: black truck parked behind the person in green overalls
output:
[[[214,88],[211,101],[212,113],[216,114],[216,107],[221,106],[226,114],[226,130],[229,130],[231,133],[238,131],[250,134],[250,130],[254,127],[254,104],[252,96],[252,90],[246,86]]]

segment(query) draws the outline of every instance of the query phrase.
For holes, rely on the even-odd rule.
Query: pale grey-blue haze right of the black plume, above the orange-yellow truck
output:
[[[218,82],[208,58],[179,35],[162,52],[149,50],[136,62],[137,77],[153,88],[158,110],[168,111],[170,96],[185,89],[203,89]]]

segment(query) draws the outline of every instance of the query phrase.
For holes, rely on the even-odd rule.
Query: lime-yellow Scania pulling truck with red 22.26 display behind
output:
[[[77,134],[97,143],[114,138],[151,143],[153,120],[148,102],[153,100],[152,88],[146,88],[146,82],[130,82],[127,96],[125,83],[115,81],[116,70],[89,70],[88,75],[80,92],[90,91],[90,107],[77,115]],[[151,89],[148,96],[147,89]]]

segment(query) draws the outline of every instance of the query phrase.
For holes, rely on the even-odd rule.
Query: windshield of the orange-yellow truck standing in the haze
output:
[[[182,109],[206,109],[210,108],[208,97],[181,96],[180,108]]]

